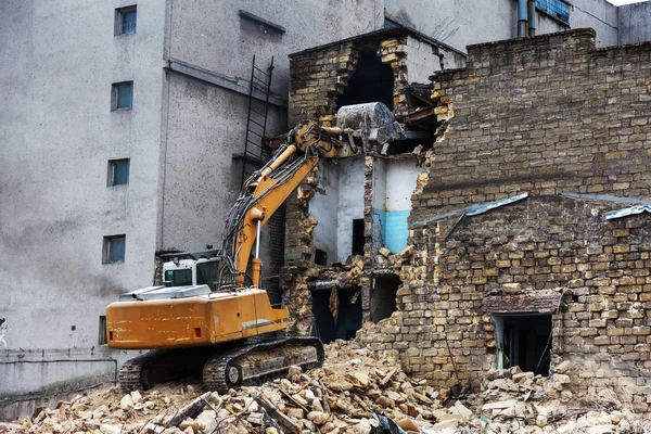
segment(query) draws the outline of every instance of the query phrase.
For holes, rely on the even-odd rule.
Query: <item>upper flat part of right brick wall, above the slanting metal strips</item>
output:
[[[412,221],[522,190],[649,196],[651,46],[593,42],[578,29],[471,46],[468,68],[437,74],[451,130]]]

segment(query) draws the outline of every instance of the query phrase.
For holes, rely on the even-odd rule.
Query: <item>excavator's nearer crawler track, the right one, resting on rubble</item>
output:
[[[320,367],[323,359],[323,344],[317,337],[281,337],[245,344],[210,357],[204,365],[203,383],[224,394],[285,372],[292,365],[307,369]]]

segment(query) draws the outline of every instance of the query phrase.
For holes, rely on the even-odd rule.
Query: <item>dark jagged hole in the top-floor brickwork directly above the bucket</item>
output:
[[[344,93],[336,98],[337,110],[344,105],[376,101],[393,110],[393,71],[390,65],[382,63],[376,52],[376,44],[366,46],[360,50],[355,73]]]

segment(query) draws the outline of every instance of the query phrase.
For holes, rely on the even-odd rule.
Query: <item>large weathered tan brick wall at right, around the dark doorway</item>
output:
[[[651,199],[651,44],[597,50],[593,30],[576,29],[468,53],[467,68],[434,78],[448,126],[412,196],[400,311],[361,339],[449,386],[448,344],[461,379],[496,366],[493,291],[564,294],[552,365],[577,365],[575,390],[626,390],[649,411],[649,216],[604,213]],[[524,192],[450,232],[473,205]]]

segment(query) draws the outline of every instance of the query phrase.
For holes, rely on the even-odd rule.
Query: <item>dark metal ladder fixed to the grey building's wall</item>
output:
[[[248,87],[248,114],[246,117],[246,137],[244,139],[244,153],[233,155],[242,159],[242,183],[257,169],[265,165],[264,138],[267,129],[267,113],[269,111],[269,94],[271,92],[271,75],[273,73],[273,58],[271,64],[264,71],[256,66],[255,55],[251,67],[251,85]]]

